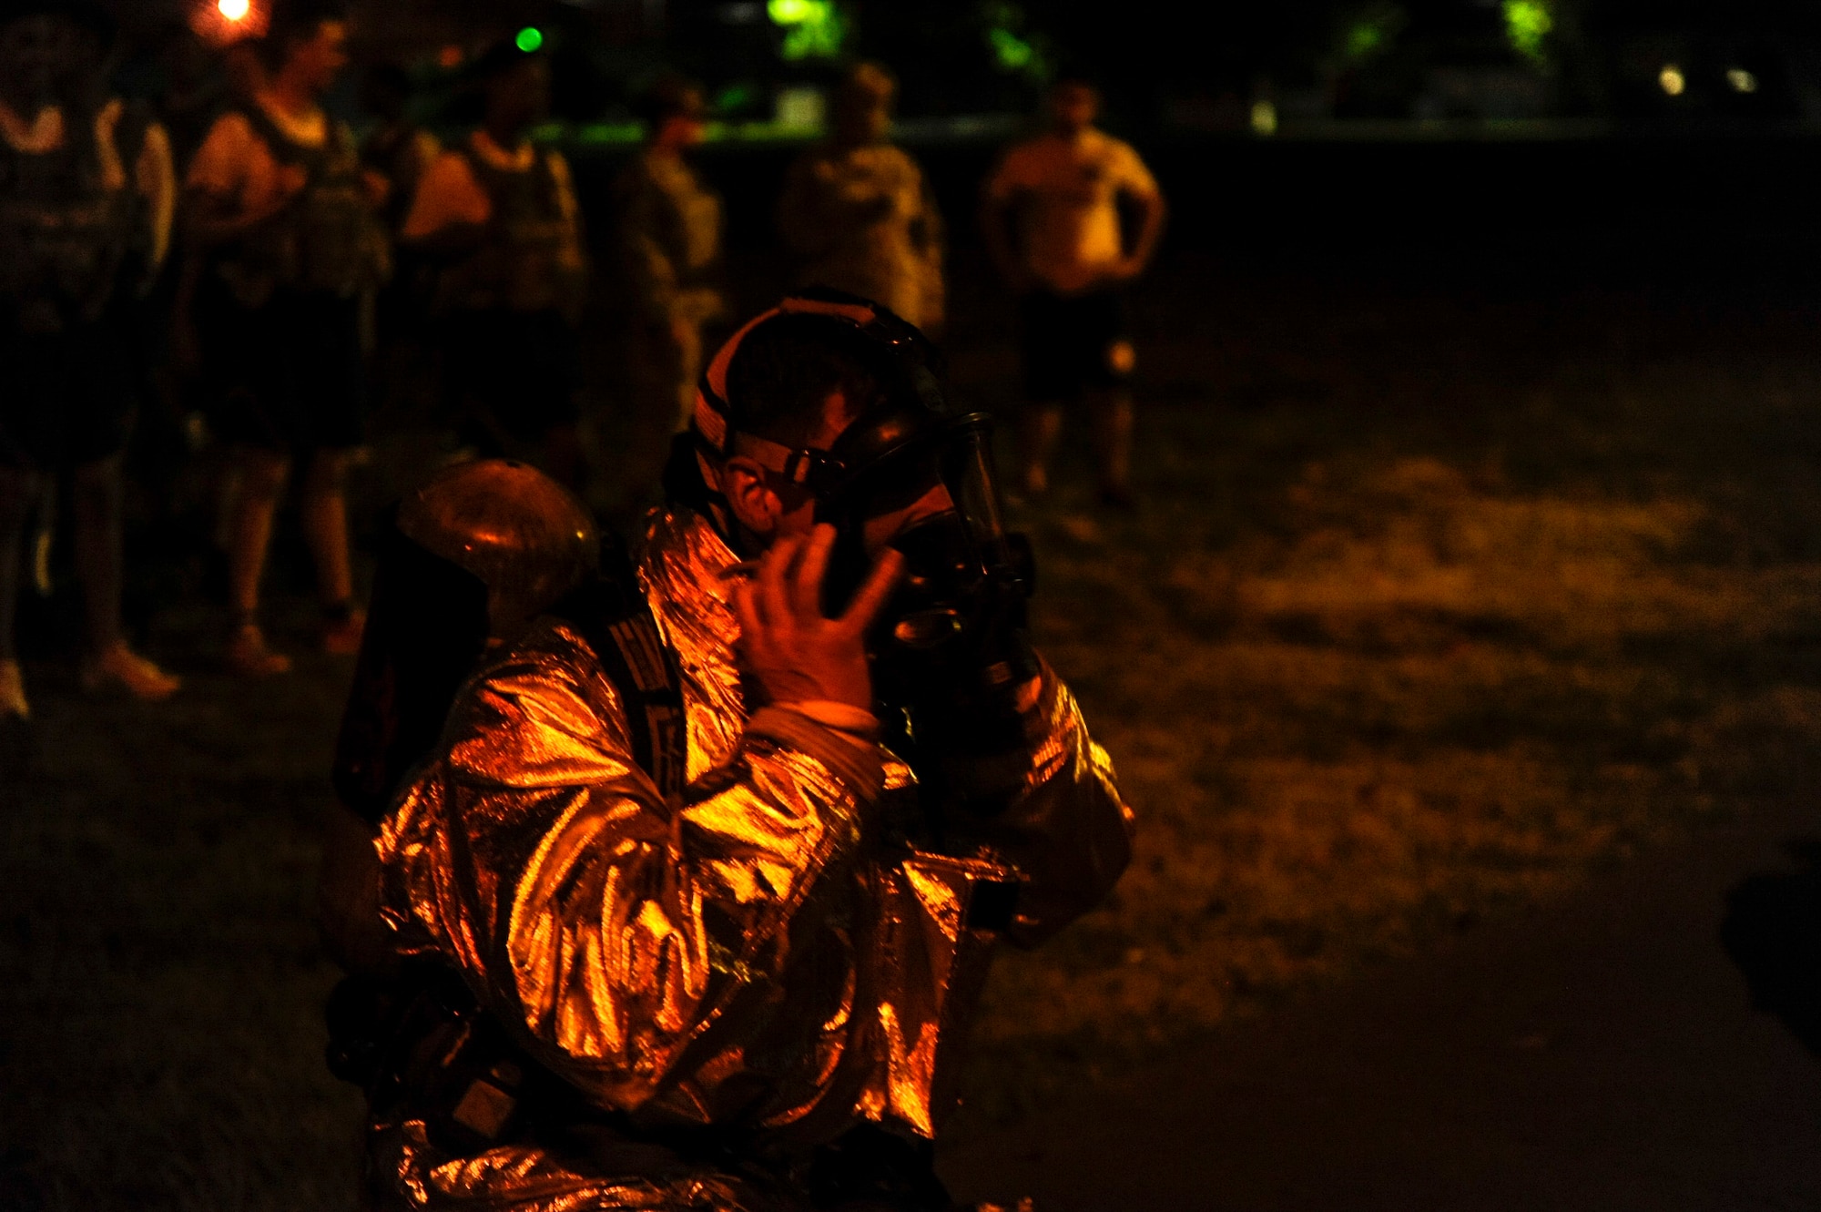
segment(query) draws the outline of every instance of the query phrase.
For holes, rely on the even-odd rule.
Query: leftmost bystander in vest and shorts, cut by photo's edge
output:
[[[120,626],[122,453],[137,369],[122,298],[169,244],[169,140],[106,95],[107,16],[84,0],[0,4],[0,719],[31,715],[15,651],[33,502],[69,473],[84,591],[82,684],[178,688]]]

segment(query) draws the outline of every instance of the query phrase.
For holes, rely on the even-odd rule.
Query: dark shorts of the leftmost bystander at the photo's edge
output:
[[[62,471],[118,455],[137,404],[133,355],[115,324],[0,333],[0,464]]]

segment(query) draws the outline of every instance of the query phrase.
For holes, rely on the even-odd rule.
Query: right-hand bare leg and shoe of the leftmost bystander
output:
[[[87,690],[120,688],[138,699],[164,699],[182,681],[171,677],[131,648],[120,633],[120,588],[124,581],[126,480],[120,455],[76,468],[73,477],[76,579],[87,622],[87,653],[82,684]]]

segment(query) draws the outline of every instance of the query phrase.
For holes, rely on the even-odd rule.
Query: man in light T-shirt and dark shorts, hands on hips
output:
[[[1164,195],[1133,147],[1094,127],[1100,93],[1060,80],[1049,129],[1009,147],[985,186],[982,227],[1018,297],[1025,379],[1023,475],[1029,497],[1049,490],[1049,459],[1065,404],[1085,402],[1094,428],[1100,499],[1131,508],[1131,375],[1127,282],[1164,235]],[[1120,206],[1136,211],[1127,247]]]

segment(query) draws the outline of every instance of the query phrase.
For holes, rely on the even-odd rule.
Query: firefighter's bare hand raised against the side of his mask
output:
[[[885,551],[847,613],[829,619],[821,582],[832,550],[832,526],[772,544],[758,573],[734,590],[739,650],[772,702],[845,702],[870,712],[865,635],[898,584],[903,557]]]

